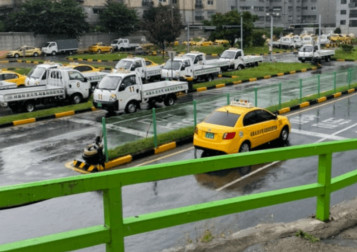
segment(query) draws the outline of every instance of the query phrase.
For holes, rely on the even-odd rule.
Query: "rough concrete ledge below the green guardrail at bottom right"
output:
[[[241,230],[228,238],[188,244],[165,249],[172,251],[204,252],[316,252],[357,251],[357,198],[332,206],[327,223],[309,217],[291,223],[258,225]],[[296,233],[304,237],[297,237]],[[214,235],[214,234],[213,234]],[[312,236],[311,236],[312,235]],[[215,235],[214,235],[215,236]],[[309,239],[310,237],[310,239]],[[311,240],[318,238],[313,242]]]

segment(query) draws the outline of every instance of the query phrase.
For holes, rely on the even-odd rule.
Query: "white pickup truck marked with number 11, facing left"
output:
[[[143,85],[139,73],[121,70],[100,81],[93,93],[93,104],[97,109],[124,110],[130,114],[136,112],[140,103],[173,105],[176,93],[187,91],[187,82],[160,81]]]

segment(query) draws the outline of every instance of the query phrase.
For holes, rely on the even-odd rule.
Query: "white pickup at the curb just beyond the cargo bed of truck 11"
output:
[[[172,73],[172,75],[171,75]],[[221,73],[220,66],[194,65],[190,57],[174,57],[167,60],[161,69],[161,78],[173,80],[212,81]],[[173,77],[172,77],[173,76]]]

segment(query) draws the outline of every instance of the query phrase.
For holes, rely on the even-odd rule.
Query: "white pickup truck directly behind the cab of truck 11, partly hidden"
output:
[[[151,60],[140,57],[127,57],[119,60],[111,73],[114,74],[117,70],[121,69],[138,72],[143,81],[147,80],[152,82],[161,80],[161,65],[158,65]]]

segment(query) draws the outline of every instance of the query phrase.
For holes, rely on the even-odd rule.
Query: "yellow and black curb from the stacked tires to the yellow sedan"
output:
[[[158,146],[157,148],[152,148],[152,149],[147,149],[144,151],[141,151],[140,153],[136,154],[128,154],[123,157],[118,157],[116,159],[113,159],[109,162],[106,162],[104,164],[104,167],[102,165],[91,165],[91,164],[86,164],[83,161],[79,160],[74,160],[73,161],[73,166],[78,170],[79,172],[82,173],[90,173],[90,172],[97,172],[97,171],[102,171],[102,170],[107,170],[112,167],[130,163],[132,161],[142,159],[148,156],[153,156],[168,150],[175,149],[176,147],[186,145],[187,143],[190,143],[193,141],[193,136],[185,137],[177,141],[172,141],[168,143],[164,143],[163,145]]]

